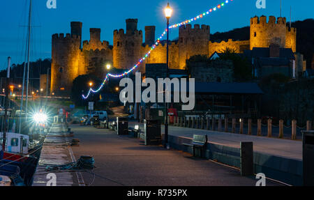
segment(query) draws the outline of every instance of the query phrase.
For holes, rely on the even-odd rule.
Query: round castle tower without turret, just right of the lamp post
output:
[[[207,25],[194,25],[194,29],[190,24],[180,26],[179,28],[179,68],[186,67],[186,60],[190,56],[197,54],[209,54],[209,37],[210,29]]]

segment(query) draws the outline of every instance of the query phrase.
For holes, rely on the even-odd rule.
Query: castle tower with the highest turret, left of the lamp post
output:
[[[124,29],[114,30],[113,66],[119,69],[132,68],[142,57],[143,34],[137,30],[137,19],[126,20]],[[141,72],[144,67],[141,66]]]

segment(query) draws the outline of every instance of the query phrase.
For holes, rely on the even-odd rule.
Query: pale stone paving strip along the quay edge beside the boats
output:
[[[51,173],[50,171],[45,171],[47,165],[51,166],[73,162],[70,157],[71,150],[70,147],[68,147],[68,141],[72,138],[65,137],[67,131],[65,124],[52,124],[50,132],[45,138],[40,154],[40,160],[33,176],[33,186],[47,186],[47,181],[51,179],[51,177],[47,178],[47,174]],[[52,173],[57,176],[56,186],[77,185],[77,177],[73,172],[52,171]]]

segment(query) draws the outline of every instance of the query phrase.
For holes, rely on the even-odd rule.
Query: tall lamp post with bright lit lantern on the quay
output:
[[[169,6],[169,2],[167,7],[165,8],[165,17],[167,19],[167,64],[166,64],[166,78],[168,77],[168,63],[169,63],[169,20],[172,15],[172,9]],[[166,100],[167,96],[167,86],[165,86],[165,148],[168,145],[168,103]]]

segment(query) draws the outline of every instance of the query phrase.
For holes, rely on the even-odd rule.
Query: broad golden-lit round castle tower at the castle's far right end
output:
[[[250,49],[253,47],[269,47],[271,43],[285,48],[286,20],[285,17],[269,16],[251,18]]]

